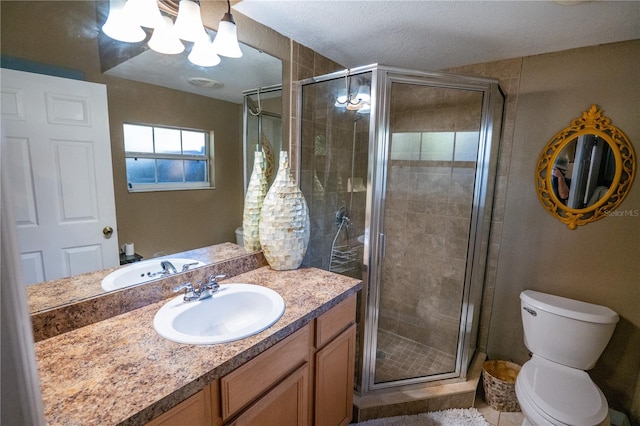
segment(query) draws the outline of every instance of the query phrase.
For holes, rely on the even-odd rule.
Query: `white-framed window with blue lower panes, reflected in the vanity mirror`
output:
[[[130,192],[212,188],[213,133],[123,125]]]

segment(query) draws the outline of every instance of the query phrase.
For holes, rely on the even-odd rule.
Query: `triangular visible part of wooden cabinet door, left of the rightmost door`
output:
[[[309,363],[305,363],[229,424],[307,426],[308,407]]]

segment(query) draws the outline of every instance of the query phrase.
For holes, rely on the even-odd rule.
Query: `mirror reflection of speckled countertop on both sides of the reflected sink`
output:
[[[247,251],[244,247],[233,243],[222,243],[156,259],[181,257],[211,264],[246,254]],[[103,294],[105,291],[101,287],[102,279],[111,272],[126,266],[130,266],[130,264],[27,286],[29,312],[41,312],[55,306],[75,303]]]

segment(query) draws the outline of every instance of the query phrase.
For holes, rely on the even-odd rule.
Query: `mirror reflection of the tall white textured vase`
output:
[[[267,177],[264,174],[262,151],[254,153],[253,172],[244,197],[244,211],[242,213],[242,232],[244,247],[248,252],[260,250],[260,216],[262,203],[267,194]]]

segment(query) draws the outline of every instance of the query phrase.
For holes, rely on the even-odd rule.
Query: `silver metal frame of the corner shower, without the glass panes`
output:
[[[488,251],[490,218],[493,206],[493,189],[497,173],[498,149],[505,96],[495,79],[466,77],[455,74],[423,72],[372,64],[358,68],[307,78],[297,84],[298,111],[302,111],[302,86],[337,78],[371,76],[371,112],[369,116],[369,153],[367,167],[367,194],[365,237],[363,254],[362,304],[363,315],[359,325],[360,353],[356,360],[356,390],[361,394],[387,391],[390,388],[410,388],[425,382],[460,378],[464,379],[476,350],[480,302],[484,286]],[[431,87],[464,89],[483,93],[480,119],[480,137],[477,167],[474,180],[473,206],[469,227],[469,242],[465,267],[463,302],[460,315],[456,368],[452,373],[401,379],[375,383],[375,360],[380,303],[380,279],[384,259],[384,199],[387,183],[389,156],[389,116],[392,83],[420,84]],[[499,100],[496,111],[495,100]],[[297,148],[301,148],[301,121],[297,120]],[[494,124],[498,128],[494,128]],[[298,156],[300,170],[301,156]],[[481,184],[478,184],[480,182]]]

